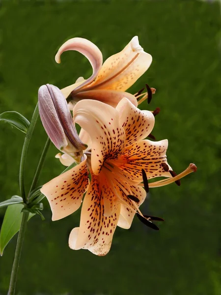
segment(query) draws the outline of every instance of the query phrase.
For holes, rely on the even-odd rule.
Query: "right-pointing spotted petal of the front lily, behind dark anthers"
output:
[[[168,165],[166,161],[166,149],[168,147],[167,139],[152,142],[142,140],[128,146],[122,156],[124,162],[121,164],[121,171],[130,179],[142,181],[141,169],[144,169],[148,179],[154,177],[171,177],[166,172],[162,163]],[[172,168],[168,165],[169,170]]]

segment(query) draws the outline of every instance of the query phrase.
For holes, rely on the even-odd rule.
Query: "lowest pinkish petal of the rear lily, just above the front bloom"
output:
[[[115,108],[124,97],[128,98],[129,101],[131,101],[131,103],[136,107],[138,106],[137,98],[133,94],[123,91],[94,89],[85,90],[75,95],[75,99],[77,101],[81,99],[95,99],[107,103],[113,108]]]

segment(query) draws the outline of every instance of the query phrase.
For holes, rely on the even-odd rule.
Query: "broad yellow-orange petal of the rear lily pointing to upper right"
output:
[[[119,53],[102,65],[94,83],[88,89],[112,89],[125,91],[149,68],[152,57],[139,45],[138,36]]]

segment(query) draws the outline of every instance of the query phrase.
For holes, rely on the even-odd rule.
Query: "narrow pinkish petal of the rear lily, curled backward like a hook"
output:
[[[75,90],[82,89],[83,86],[92,82],[97,76],[98,71],[101,68],[103,57],[100,49],[91,41],[84,38],[72,38],[66,41],[61,47],[58,49],[58,52],[55,56],[55,60],[57,63],[60,63],[60,56],[64,51],[75,50],[83,54],[90,62],[93,68],[93,74],[88,78],[85,82],[83,82],[80,86],[75,88]],[[74,89],[72,89],[74,90]]]

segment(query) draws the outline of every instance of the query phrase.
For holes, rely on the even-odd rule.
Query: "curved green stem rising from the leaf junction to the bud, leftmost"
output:
[[[38,118],[38,104],[35,107],[34,113],[32,115],[30,125],[28,128],[28,132],[25,137],[23,149],[22,149],[22,156],[21,156],[21,162],[20,162],[20,173],[19,173],[19,184],[20,184],[20,191],[23,198],[24,203],[26,203],[26,192],[25,192],[25,183],[24,183],[24,169],[25,169],[25,163],[26,163],[26,155],[28,151],[28,146],[30,143],[30,139],[34,130],[34,126],[36,124]]]

